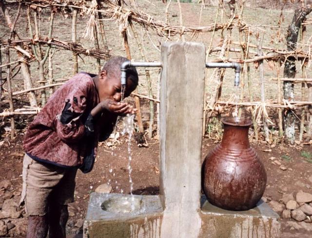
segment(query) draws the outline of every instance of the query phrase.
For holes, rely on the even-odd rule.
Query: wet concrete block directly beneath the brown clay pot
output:
[[[218,208],[201,198],[201,238],[280,238],[281,222],[264,201],[248,211]]]

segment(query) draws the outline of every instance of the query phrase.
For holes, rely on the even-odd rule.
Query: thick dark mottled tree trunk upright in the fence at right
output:
[[[299,8],[296,9],[292,18],[292,23],[288,27],[288,33],[286,36],[287,50],[293,51],[296,49],[296,43],[298,40],[298,34],[301,23],[305,20],[306,16],[312,11],[312,8]],[[284,67],[284,77],[294,78],[296,74],[296,58],[294,56],[288,57]],[[287,101],[294,100],[294,88],[292,81],[284,81],[283,84],[284,99]],[[294,144],[295,141],[295,115],[292,110],[285,110],[284,112],[284,127],[286,141],[290,144]]]

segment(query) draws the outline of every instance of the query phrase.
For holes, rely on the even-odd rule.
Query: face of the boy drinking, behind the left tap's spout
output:
[[[120,77],[108,77],[105,70],[101,71],[99,76],[98,95],[100,102],[105,99],[111,99],[116,102],[121,100],[121,82]],[[136,89],[136,85],[128,79],[124,97],[128,97]]]

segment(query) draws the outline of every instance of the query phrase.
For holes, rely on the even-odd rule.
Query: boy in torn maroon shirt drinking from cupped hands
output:
[[[26,238],[65,238],[67,204],[74,200],[77,169],[91,171],[99,140],[105,140],[117,115],[134,113],[121,100],[120,67],[108,61],[98,75],[78,73],[49,99],[24,139],[22,201],[28,215]],[[125,97],[138,84],[127,70]]]

